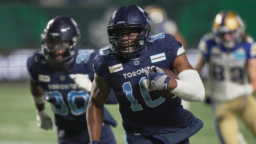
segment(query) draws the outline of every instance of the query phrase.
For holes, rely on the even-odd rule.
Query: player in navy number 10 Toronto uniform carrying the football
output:
[[[174,36],[161,33],[151,37],[150,29],[149,15],[135,5],[122,6],[110,17],[107,31],[111,45],[94,58],[87,108],[91,143],[99,143],[104,102],[111,88],[120,106],[127,144],[187,144],[203,127],[202,121],[181,105],[181,98],[203,101],[205,90],[199,74]],[[156,74],[149,73],[153,68]],[[170,79],[159,68],[172,70],[180,80]],[[151,92],[162,89],[176,97]]]

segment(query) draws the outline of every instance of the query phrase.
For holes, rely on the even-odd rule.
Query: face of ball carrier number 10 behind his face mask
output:
[[[121,36],[121,40],[118,41],[123,51],[132,51],[135,44],[135,40],[139,34],[137,28],[123,29],[117,32],[118,36]]]

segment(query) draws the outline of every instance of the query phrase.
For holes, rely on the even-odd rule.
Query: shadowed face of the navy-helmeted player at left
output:
[[[67,56],[70,43],[68,41],[60,40],[50,45],[50,57],[54,60],[60,60]]]

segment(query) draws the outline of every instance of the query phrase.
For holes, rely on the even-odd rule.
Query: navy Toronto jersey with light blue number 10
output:
[[[189,124],[194,116],[183,109],[181,99],[167,99],[148,92],[142,84],[143,69],[158,66],[172,70],[183,46],[170,34],[152,36],[146,51],[136,59],[117,55],[111,46],[102,48],[94,59],[94,71],[116,93],[125,130],[144,135],[177,131]]]

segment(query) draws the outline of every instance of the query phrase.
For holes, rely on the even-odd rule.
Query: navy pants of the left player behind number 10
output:
[[[88,144],[90,143],[88,130],[81,132],[68,132],[58,129],[58,144]],[[101,128],[101,144],[116,144],[114,134],[109,125],[104,124]]]

